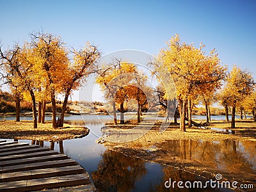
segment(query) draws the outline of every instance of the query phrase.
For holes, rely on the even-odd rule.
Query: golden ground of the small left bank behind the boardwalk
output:
[[[0,121],[0,138],[18,140],[61,141],[73,138],[82,138],[90,130],[86,127],[64,124],[63,127],[53,129],[51,122],[38,124],[33,129],[32,121]]]

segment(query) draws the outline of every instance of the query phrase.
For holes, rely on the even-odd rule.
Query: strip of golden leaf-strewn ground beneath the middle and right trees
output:
[[[179,130],[179,125],[168,125],[163,127],[165,131],[159,131],[159,125],[147,123],[143,125],[145,129],[134,129],[136,124],[128,125],[108,125],[104,132],[104,145],[108,148],[148,148],[152,143],[161,143],[167,140],[240,140],[256,141],[256,123],[252,120],[242,120],[236,123],[236,134],[227,132],[218,132],[211,129],[198,129],[192,127],[186,129],[186,132]],[[147,129],[146,127],[151,127]],[[230,129],[230,123],[224,121],[215,121],[205,126],[206,128],[215,127],[220,129]]]

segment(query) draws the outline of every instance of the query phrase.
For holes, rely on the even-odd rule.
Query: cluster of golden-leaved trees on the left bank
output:
[[[89,42],[78,51],[69,50],[59,36],[49,33],[32,33],[30,37],[30,42],[15,44],[11,49],[3,50],[0,46],[2,75],[15,93],[17,120],[21,97],[32,100],[34,128],[37,127],[36,102],[38,122],[44,122],[45,104],[49,100],[52,127],[62,127],[70,93],[79,88],[86,76],[95,72],[100,52]],[[64,96],[58,123],[57,94]]]

